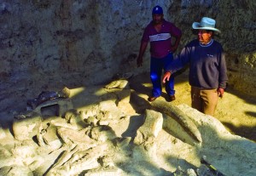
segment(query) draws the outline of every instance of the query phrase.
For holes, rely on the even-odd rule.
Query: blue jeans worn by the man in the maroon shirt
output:
[[[150,60],[150,78],[153,84],[152,96],[159,97],[162,93],[162,83],[161,76],[163,69],[172,63],[173,56],[172,53],[166,55],[164,58],[153,58]],[[169,82],[166,82],[166,93],[169,95],[174,95],[174,77],[170,77]]]

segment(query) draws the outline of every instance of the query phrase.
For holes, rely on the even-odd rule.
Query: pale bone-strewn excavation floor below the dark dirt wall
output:
[[[155,101],[171,116],[152,110],[148,78],[72,88],[69,100],[16,113],[10,130],[0,128],[1,175],[209,175],[202,156],[225,175],[255,175],[255,99],[230,88],[216,118],[203,115],[189,107],[184,72],[177,99],[166,103],[164,93]]]

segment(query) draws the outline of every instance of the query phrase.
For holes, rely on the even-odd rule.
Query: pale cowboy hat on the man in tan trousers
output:
[[[194,22],[192,24],[192,28],[196,29],[196,30],[210,30],[210,31],[218,31],[220,32],[217,28],[215,28],[215,20],[210,19],[208,17],[203,17],[200,21],[200,23],[198,22]]]

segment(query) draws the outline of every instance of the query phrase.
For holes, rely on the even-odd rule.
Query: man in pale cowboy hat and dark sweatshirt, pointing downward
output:
[[[213,40],[215,20],[203,17],[194,22],[192,28],[198,31],[197,39],[188,43],[176,60],[166,69],[162,81],[169,80],[172,73],[189,64],[192,107],[213,116],[218,97],[223,97],[228,81],[222,45]]]

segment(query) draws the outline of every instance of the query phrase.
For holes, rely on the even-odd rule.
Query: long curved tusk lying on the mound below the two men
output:
[[[187,116],[183,111],[179,110],[175,105],[167,103],[163,100],[156,100],[151,103],[151,108],[154,111],[160,111],[170,117],[172,117],[176,122],[178,122],[186,133],[196,142],[201,143],[201,133],[195,126],[195,123]]]

